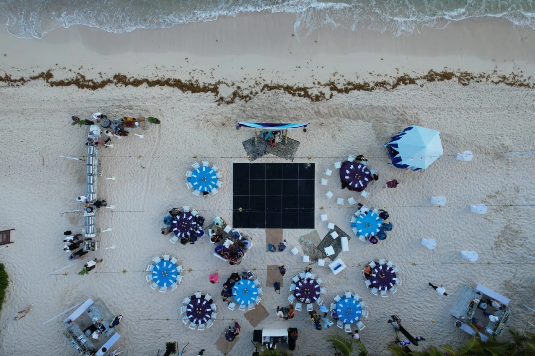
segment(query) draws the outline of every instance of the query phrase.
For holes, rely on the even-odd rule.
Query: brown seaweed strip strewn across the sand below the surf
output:
[[[522,73],[522,72],[521,72]],[[437,72],[433,69],[429,70],[426,74],[420,76],[410,76],[408,74],[402,74],[399,76],[391,76],[391,80],[371,81],[371,82],[353,82],[345,81],[343,83],[336,83],[334,80],[330,80],[324,83],[314,82],[314,86],[299,86],[288,84],[264,84],[259,88],[259,83],[255,82],[254,85],[249,85],[247,88],[235,85],[235,83],[228,84],[224,81],[216,81],[214,83],[200,83],[198,80],[181,80],[178,78],[135,78],[127,77],[124,74],[116,74],[111,78],[96,81],[89,79],[81,73],[75,73],[74,77],[53,80],[52,69],[46,72],[41,72],[35,76],[13,78],[12,75],[7,73],[4,76],[0,76],[0,83],[5,83],[6,86],[21,86],[31,81],[43,80],[50,86],[70,86],[75,85],[79,89],[97,90],[104,88],[107,85],[123,85],[123,86],[141,86],[147,84],[148,86],[169,86],[176,88],[182,92],[192,93],[212,93],[217,99],[218,105],[221,104],[233,104],[236,99],[247,102],[258,94],[278,90],[283,91],[291,96],[306,98],[310,101],[326,101],[333,97],[333,93],[345,93],[348,94],[351,91],[374,91],[377,89],[394,90],[401,85],[419,85],[424,86],[425,82],[444,82],[456,80],[458,84],[469,85],[470,83],[490,82],[493,84],[505,84],[507,86],[513,86],[517,88],[535,88],[535,83],[530,83],[531,77],[524,77],[523,74],[517,74],[511,72],[508,75],[499,74],[497,70],[492,73],[470,73],[462,72],[460,70],[451,71],[444,69],[441,72]],[[219,96],[219,86],[225,84],[228,87],[234,87],[234,91],[228,97]],[[321,89],[328,89],[330,93]]]

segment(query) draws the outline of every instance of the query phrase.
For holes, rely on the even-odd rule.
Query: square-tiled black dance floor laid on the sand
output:
[[[232,226],[314,228],[314,163],[234,163]]]

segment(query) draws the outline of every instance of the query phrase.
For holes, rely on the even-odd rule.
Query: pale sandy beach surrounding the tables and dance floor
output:
[[[293,256],[289,250],[295,246],[302,251],[301,236],[313,230],[285,229],[289,248],[273,254],[266,252],[265,230],[243,229],[254,247],[239,266],[213,257],[207,236],[194,246],[182,246],[160,233],[166,212],[182,205],[195,208],[207,221],[220,216],[232,224],[232,164],[249,162],[242,141],[254,136],[254,130],[236,130],[236,121],[331,123],[290,133],[300,141],[293,162],[315,164],[315,230],[321,238],[328,232],[322,213],[351,233],[349,218],[356,205],[346,202],[341,207],[336,197],[354,196],[391,215],[394,228],[376,245],[358,241],[351,233],[349,252],[339,255],[348,266],[341,273],[311,265],[324,281],[326,303],[334,294],[351,290],[368,304],[369,317],[363,318],[360,335],[370,354],[389,354],[395,333],[386,320],[392,314],[400,315],[412,335],[426,338],[414,350],[467,339],[450,315],[463,284],[483,284],[507,296],[513,313],[508,328],[534,330],[528,324],[533,312],[525,308],[534,307],[533,259],[517,255],[535,254],[533,207],[505,204],[535,203],[535,156],[503,157],[535,149],[533,30],[501,19],[465,20],[401,37],[322,28],[299,42],[292,36],[294,22],[293,15],[258,13],[126,34],[78,26],[50,31],[42,39],[19,39],[0,31],[2,75],[12,80],[48,70],[53,75],[49,82],[39,78],[17,83],[7,77],[0,82],[0,230],[16,229],[14,243],[0,250],[0,262],[10,276],[0,313],[0,354],[74,355],[62,335],[63,317],[43,323],[87,298],[102,299],[113,313],[124,315],[116,345],[125,356],[157,354],[158,349],[163,354],[167,341],[177,341],[180,348],[189,343],[185,356],[200,349],[206,349],[205,356],[220,355],[214,343],[232,319],[242,328],[229,355],[254,352],[254,329],[288,327],[300,331],[294,355],[333,354],[324,338],[343,330],[315,330],[306,311],[288,321],[276,315],[278,305],[288,304],[292,276],[307,265],[302,253]],[[430,70],[452,75],[444,81],[436,76],[432,82],[423,77]],[[96,90],[52,83],[77,73],[95,82],[112,79],[108,85],[95,84],[102,86]],[[199,86],[125,86],[113,79],[119,73],[149,80],[197,80]],[[384,89],[404,74],[404,85]],[[421,79],[411,84],[409,77]],[[389,84],[344,93],[351,86],[348,81],[368,82],[372,88],[381,81]],[[218,82],[217,95],[188,91]],[[332,84],[324,85],[327,82]],[[263,89],[264,84],[271,88]],[[309,87],[307,95],[299,86]],[[246,99],[225,104],[233,92]],[[315,94],[325,99],[311,100]],[[219,97],[223,104],[217,102]],[[136,131],[142,139],[133,134],[114,138],[113,148],[100,149],[98,197],[114,209],[101,209],[97,226],[112,231],[97,235],[98,251],[87,257],[103,258],[103,263],[89,275],[77,274],[82,264],[49,275],[72,263],[62,251],[63,232],[83,228],[81,213],[58,212],[80,209],[75,198],[85,192],[85,163],[58,155],[85,154],[88,126],[71,126],[70,117],[90,118],[95,112],[110,118],[155,116],[162,123]],[[228,125],[222,127],[221,122]],[[426,170],[387,165],[383,145],[409,125],[440,131],[444,155]],[[465,150],[474,153],[473,160],[456,160]],[[378,171],[379,181],[366,189],[366,199],[340,189],[333,162],[349,154],[365,155]],[[220,167],[223,186],[216,196],[203,199],[186,188],[184,175],[194,157]],[[267,154],[255,162],[290,161]],[[320,179],[326,168],[333,176],[325,187]],[[105,180],[112,176],[117,179]],[[385,189],[391,179],[399,186]],[[325,197],[327,190],[333,199]],[[437,208],[430,202],[432,195],[445,195],[447,204]],[[477,203],[488,206],[485,215],[470,212],[468,205]],[[431,237],[437,240],[434,250],[420,244]],[[116,248],[106,249],[112,245]],[[462,250],[477,251],[479,259],[461,259]],[[178,289],[165,294],[151,290],[144,280],[151,258],[163,254],[178,256],[186,269]],[[362,266],[377,258],[391,259],[401,268],[402,286],[388,298],[373,296],[361,275]],[[265,286],[268,265],[288,270],[280,295]],[[253,327],[243,312],[228,310],[219,297],[223,281],[208,281],[216,270],[223,281],[234,271],[254,270],[264,285],[261,304],[269,316]],[[429,282],[444,285],[448,296],[437,296]],[[213,327],[205,331],[189,330],[181,322],[180,302],[197,290],[215,296],[219,310]],[[12,320],[32,303],[27,317]]]

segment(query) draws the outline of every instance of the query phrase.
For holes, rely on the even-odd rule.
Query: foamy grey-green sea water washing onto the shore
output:
[[[20,38],[41,38],[74,25],[124,33],[260,11],[295,14],[298,38],[322,26],[364,27],[399,36],[493,17],[535,29],[534,0],[0,0],[0,20]]]

